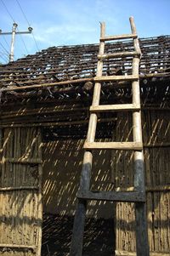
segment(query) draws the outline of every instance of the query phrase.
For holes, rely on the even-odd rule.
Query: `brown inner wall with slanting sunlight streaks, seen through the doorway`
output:
[[[59,139],[43,146],[43,211],[72,216],[82,170],[84,139]],[[95,151],[93,190],[111,189],[111,151]],[[111,202],[89,202],[88,216],[113,217]]]

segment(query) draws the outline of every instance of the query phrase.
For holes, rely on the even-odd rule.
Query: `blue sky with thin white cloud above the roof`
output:
[[[0,29],[33,28],[16,35],[14,60],[61,45],[99,43],[99,22],[107,35],[130,32],[133,15],[139,37],[170,34],[170,0],[0,0]],[[11,36],[0,35],[0,63],[8,63]]]

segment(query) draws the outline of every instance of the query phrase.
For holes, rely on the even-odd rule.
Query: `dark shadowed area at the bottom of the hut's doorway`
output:
[[[69,256],[73,217],[44,214],[42,256]],[[114,255],[114,225],[112,219],[87,219],[83,256]]]

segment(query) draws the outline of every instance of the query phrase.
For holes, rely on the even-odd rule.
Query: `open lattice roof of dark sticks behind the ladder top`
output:
[[[161,82],[161,94],[167,94],[167,81],[170,78],[170,36],[140,38],[139,43],[142,50],[139,69],[141,87],[147,88],[153,82]],[[105,53],[132,50],[132,40],[105,45]],[[84,91],[84,82],[95,77],[98,51],[99,44],[86,44],[53,47],[27,55],[26,58],[0,66],[0,87],[6,97],[9,93],[11,97],[14,91],[13,95],[24,96],[27,91],[39,95],[47,87],[50,94],[69,94],[72,91],[81,94]],[[131,71],[132,57],[104,62],[104,75],[130,74]],[[109,85],[114,83],[105,82],[104,88]]]

